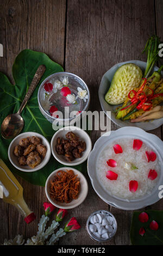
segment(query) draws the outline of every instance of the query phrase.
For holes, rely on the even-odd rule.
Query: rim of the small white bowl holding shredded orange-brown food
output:
[[[80,174],[80,175],[81,175],[82,179],[85,181],[85,184],[86,184],[86,186],[85,186],[85,191],[86,191],[86,193],[85,193],[85,196],[82,198],[82,201],[81,201],[81,202],[74,203],[74,204],[71,205],[71,206],[61,206],[61,205],[55,203],[55,202],[51,199],[51,197],[49,196],[49,194],[48,194],[48,192],[47,192],[48,181],[49,181],[49,179],[51,179],[51,177],[52,177],[55,173],[58,172],[58,170],[73,170],[73,171],[76,172],[77,174]],[[77,169],[74,169],[74,168],[71,168],[71,167],[68,167],[68,166],[67,166],[67,167],[60,167],[60,168],[54,170],[54,171],[48,176],[48,178],[47,178],[47,180],[46,180],[46,184],[45,184],[45,193],[46,193],[46,196],[47,196],[49,202],[51,202],[51,203],[52,203],[54,206],[56,206],[57,208],[61,208],[61,209],[73,209],[73,208],[76,208],[77,206],[79,206],[80,204],[82,204],[82,203],[84,202],[84,200],[86,199],[86,197],[87,197],[88,190],[89,190],[89,186],[88,186],[87,180],[86,180],[85,176],[83,175],[83,173],[81,173],[81,172],[80,172],[79,170],[77,170]],[[74,202],[75,202],[75,201],[76,201],[76,200],[74,200]],[[68,204],[68,203],[67,203],[67,204]]]

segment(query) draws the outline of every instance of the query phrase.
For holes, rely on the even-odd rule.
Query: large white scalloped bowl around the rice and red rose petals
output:
[[[161,139],[151,133],[143,131],[138,127],[129,126],[123,127],[116,131],[111,131],[110,136],[106,136],[107,134],[108,133],[105,133],[105,136],[102,136],[97,140],[87,161],[88,174],[90,176],[92,186],[98,196],[107,204],[123,210],[137,210],[158,202],[160,200],[159,186],[163,184],[163,142],[161,141]],[[123,138],[137,138],[145,141],[145,143],[149,145],[149,147],[151,147],[155,151],[156,155],[159,157],[160,173],[158,183],[150,194],[147,194],[140,199],[127,200],[112,196],[109,192],[106,192],[104,190],[101,182],[97,178],[97,161],[98,156],[101,154],[101,151],[109,143],[112,143],[113,141],[118,139],[121,141],[121,139]]]

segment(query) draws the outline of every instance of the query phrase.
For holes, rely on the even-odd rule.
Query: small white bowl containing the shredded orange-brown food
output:
[[[73,170],[74,175],[78,175],[77,178],[79,178],[79,180],[80,180],[79,196],[77,199],[73,199],[70,203],[55,202],[49,194],[50,181],[53,180],[55,174],[59,170],[64,170],[64,171],[65,170]],[[88,192],[88,185],[87,185],[87,180],[86,180],[85,176],[81,172],[79,172],[79,170],[71,168],[71,167],[62,167],[57,170],[54,170],[54,172],[52,172],[51,175],[48,176],[46,184],[45,184],[45,193],[46,193],[46,196],[47,196],[49,202],[51,202],[57,208],[61,208],[61,209],[72,209],[72,208],[75,208],[78,205],[82,204],[87,196],[87,192]]]

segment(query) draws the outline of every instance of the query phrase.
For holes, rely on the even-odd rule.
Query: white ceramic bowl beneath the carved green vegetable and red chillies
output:
[[[102,107],[103,111],[105,112],[105,114],[106,114],[106,111],[111,111],[111,120],[118,126],[121,126],[121,127],[137,126],[145,131],[150,131],[150,130],[156,129],[163,124],[163,118],[155,119],[154,121],[149,120],[148,122],[139,122],[139,123],[130,123],[129,120],[122,121],[120,119],[116,119],[115,113],[112,113],[118,106],[122,106],[122,104],[121,105],[110,105],[104,99],[106,92],[108,92],[108,90],[109,90],[112,78],[113,78],[116,70],[118,68],[120,68],[120,66],[122,66],[126,63],[134,63],[137,66],[139,66],[142,71],[145,71],[146,64],[147,64],[146,62],[141,62],[140,60],[129,60],[128,62],[121,62],[121,63],[118,63],[118,64],[112,66],[112,68],[109,69],[103,75],[101,84],[99,86],[98,96],[99,96],[99,101],[101,103],[101,107]],[[151,74],[153,71],[156,71],[158,69],[159,68],[157,66],[154,66],[153,70],[151,71]],[[163,72],[161,72],[161,74],[163,75]],[[109,115],[108,115],[108,117],[110,118]]]

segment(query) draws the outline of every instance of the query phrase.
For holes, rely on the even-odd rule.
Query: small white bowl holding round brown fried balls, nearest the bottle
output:
[[[18,163],[17,160],[17,156],[14,155],[14,148],[16,145],[18,145],[20,139],[22,138],[27,138],[27,137],[31,137],[31,136],[36,136],[41,138],[42,140],[42,144],[46,146],[47,149],[47,153],[44,159],[41,160],[41,163],[36,166],[35,168],[30,168],[29,166],[21,166]],[[51,145],[49,144],[49,142],[47,141],[47,139],[45,137],[43,137],[41,134],[37,133],[37,132],[23,132],[20,135],[16,136],[12,142],[9,145],[9,149],[8,149],[8,156],[9,156],[9,160],[12,163],[13,166],[15,166],[15,168],[22,170],[22,172],[35,172],[36,170],[40,170],[42,169],[49,161],[50,157],[51,157]]]

